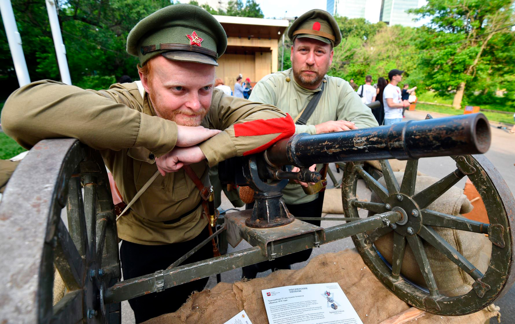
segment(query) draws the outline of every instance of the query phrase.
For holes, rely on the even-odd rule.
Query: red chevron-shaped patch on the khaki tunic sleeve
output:
[[[268,147],[272,146],[273,143],[282,140],[283,138],[291,137],[295,134],[295,124],[291,116],[286,114],[286,117],[282,118],[271,118],[271,119],[259,119],[245,122],[242,124],[234,125],[234,136],[260,136],[268,134],[280,133],[276,138],[270,142],[256,147],[249,151],[246,151],[243,155],[250,155],[260,153]]]

